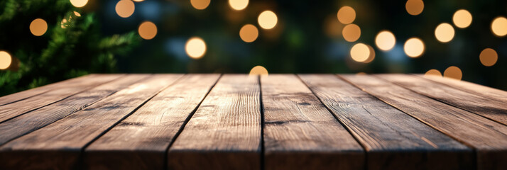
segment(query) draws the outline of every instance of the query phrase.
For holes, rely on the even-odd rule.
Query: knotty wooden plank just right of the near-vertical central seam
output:
[[[264,169],[364,169],[358,142],[293,74],[261,77]]]

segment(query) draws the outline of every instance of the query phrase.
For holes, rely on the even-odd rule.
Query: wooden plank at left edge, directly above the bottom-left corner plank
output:
[[[54,123],[56,120],[65,118],[67,115],[81,111],[87,108],[87,106],[100,101],[102,98],[114,94],[116,91],[124,89],[136,81],[147,77],[148,75],[146,74],[129,74],[107,84],[97,86],[89,91],[70,96],[57,103],[0,123],[0,132],[2,132],[0,135],[0,145],[16,137],[25,135],[28,132],[32,132],[33,130],[43,128],[45,125]]]

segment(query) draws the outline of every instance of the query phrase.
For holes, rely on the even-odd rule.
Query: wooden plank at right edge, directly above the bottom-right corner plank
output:
[[[410,74],[378,74],[378,77],[415,91],[415,93],[435,98],[443,103],[462,108],[471,113],[476,113],[490,118],[491,120],[495,120],[498,123],[502,123],[503,125],[507,125],[507,102],[470,94]]]

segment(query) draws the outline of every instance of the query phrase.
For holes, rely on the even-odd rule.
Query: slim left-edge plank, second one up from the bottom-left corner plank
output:
[[[29,111],[34,111],[43,106],[48,106],[57,101],[61,101],[62,99],[78,94],[82,91],[87,91],[88,89],[92,89],[94,86],[118,79],[121,76],[123,75],[104,74],[87,77],[86,79],[81,79],[80,81],[67,81],[67,83],[62,84],[62,86],[58,86],[57,89],[52,89],[46,93],[33,96],[31,98],[26,98],[23,102],[0,106],[0,123]]]

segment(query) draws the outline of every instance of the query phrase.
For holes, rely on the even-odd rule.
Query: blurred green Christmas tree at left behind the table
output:
[[[31,28],[37,18],[45,21],[43,28]],[[43,35],[31,29],[43,29]],[[69,0],[2,0],[0,51],[9,52],[12,62],[0,70],[0,96],[93,72],[114,72],[114,55],[129,52],[139,41],[133,32],[100,35],[97,18]]]

